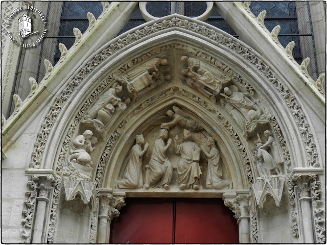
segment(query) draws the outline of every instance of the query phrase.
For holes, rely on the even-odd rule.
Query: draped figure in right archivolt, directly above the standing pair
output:
[[[245,126],[244,136],[246,138],[248,138],[249,133],[255,130],[256,126],[268,123],[261,108],[251,100],[250,95],[243,92],[233,92],[229,87],[225,87],[224,93],[221,93],[221,95],[224,97],[221,103],[224,106],[226,106],[226,103],[229,103],[230,108],[227,110],[240,125]],[[233,113],[233,109],[236,109],[238,113]]]

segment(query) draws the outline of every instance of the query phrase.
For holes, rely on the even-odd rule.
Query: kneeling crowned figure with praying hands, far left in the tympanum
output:
[[[145,145],[144,145],[145,144]],[[142,151],[142,145],[144,149]],[[136,136],[136,144],[132,147],[129,155],[124,177],[116,182],[116,187],[136,189],[143,187],[142,158],[147,151],[149,143],[145,143],[142,134]]]

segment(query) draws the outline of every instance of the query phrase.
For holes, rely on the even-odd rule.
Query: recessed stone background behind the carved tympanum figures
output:
[[[180,107],[181,108],[181,107]],[[182,109],[182,108],[181,108]],[[209,135],[209,133],[207,133],[205,131],[205,129],[203,129],[203,127],[201,126],[201,124],[198,122],[200,121],[198,118],[193,118],[191,115],[187,115],[186,113],[184,113],[185,110],[181,110],[176,106],[171,106],[170,108],[168,108],[167,110],[162,111],[161,115],[162,116],[158,116],[157,118],[153,118],[152,119],[152,123],[150,123],[150,126],[147,127],[146,130],[143,131],[143,137],[144,137],[144,142],[148,143],[148,148],[145,151],[143,157],[141,157],[140,159],[142,160],[142,165],[141,165],[141,172],[142,172],[142,180],[138,181],[138,185],[132,185],[132,186],[128,186],[129,184],[123,184],[123,185],[119,185],[118,183],[127,183],[126,179],[128,179],[128,177],[130,177],[128,174],[126,174],[127,171],[130,171],[131,169],[135,169],[135,167],[130,168],[128,165],[130,164],[130,156],[133,152],[133,148],[136,145],[136,140],[135,138],[133,139],[134,142],[132,144],[132,148],[129,149],[129,151],[126,151],[125,154],[125,159],[122,162],[122,167],[120,169],[120,173],[118,175],[118,180],[115,183],[115,188],[119,188],[119,189],[124,189],[124,191],[126,192],[130,192],[130,191],[145,191],[145,192],[217,192],[217,190],[222,190],[222,192],[226,191],[227,189],[231,189],[232,188],[232,183],[231,183],[231,175],[229,173],[229,170],[227,168],[227,162],[226,159],[223,155],[223,153],[221,152],[221,150],[219,149],[219,145],[217,145],[217,141],[214,140],[214,145],[212,147],[215,147],[218,150],[218,155],[216,154],[216,159],[215,162],[218,162],[219,166],[214,167],[216,170],[218,170],[217,168],[219,168],[219,177],[220,179],[222,179],[223,183],[222,185],[220,185],[220,187],[217,187],[217,185],[215,187],[213,187],[212,185],[208,185],[207,184],[207,174],[208,174],[208,158],[204,155],[203,150],[201,149],[204,148],[206,150],[206,152],[210,151],[209,146],[207,145],[207,141],[208,138],[211,137],[217,137],[217,136],[211,136]],[[190,141],[193,141],[196,143],[196,145],[198,146],[198,150],[200,150],[200,155],[199,155],[199,160],[198,160],[198,164],[200,167],[200,171],[201,171],[201,177],[198,180],[198,184],[199,184],[199,188],[193,188],[192,185],[189,185],[185,188],[180,188],[180,183],[179,183],[179,176],[178,176],[178,162],[181,159],[181,154],[176,154],[175,150],[174,150],[174,143],[175,143],[175,137],[176,135],[178,135],[178,139],[177,139],[177,143],[181,144],[182,142],[184,142],[183,139],[183,134],[185,131],[185,127],[183,127],[183,125],[180,125],[180,123],[177,124],[173,124],[173,125],[165,125],[167,124],[167,122],[172,122],[173,119],[171,116],[168,115],[168,112],[171,110],[173,113],[175,112],[176,114],[181,114],[183,116],[183,118],[185,118],[186,120],[190,120],[189,124],[186,124],[186,128],[189,129],[191,132],[191,137],[192,139]],[[167,114],[166,114],[167,112]],[[185,111],[186,112],[186,111]],[[166,115],[165,115],[166,114]],[[192,123],[195,122],[195,126],[192,125]],[[190,127],[189,125],[192,125],[192,127]],[[184,125],[185,126],[185,125]],[[189,128],[188,128],[189,127]],[[149,183],[149,180],[151,179],[153,173],[150,167],[150,162],[151,162],[151,157],[154,154],[153,151],[155,151],[155,141],[158,139],[159,136],[159,132],[161,130],[163,130],[163,128],[169,128],[168,131],[168,139],[171,139],[171,144],[168,147],[168,149],[166,150],[164,156],[165,158],[169,160],[169,162],[172,165],[172,175],[171,175],[171,181],[169,183],[169,188],[165,187],[165,183],[160,185],[160,181],[162,180],[162,178],[164,178],[165,174],[163,174],[163,176],[160,178],[160,180],[158,182],[155,182],[154,184],[150,184],[150,186],[145,187],[144,185],[146,183]],[[193,131],[193,132],[192,132]],[[137,136],[136,136],[137,138]],[[139,140],[138,140],[139,141]],[[164,145],[167,145],[167,139],[164,140]],[[195,148],[197,148],[197,146],[194,146]],[[145,144],[141,144],[141,150],[144,151],[145,148]],[[219,160],[218,160],[219,159]],[[164,163],[163,165],[165,165],[166,163]],[[129,170],[127,170],[129,168]],[[138,171],[138,170],[137,170]],[[169,171],[169,170],[168,170]],[[131,174],[131,171],[130,173]],[[133,175],[133,174],[132,174]],[[168,174],[169,176],[169,174]],[[217,175],[215,175],[217,176]],[[211,175],[211,179],[213,179],[213,181],[217,182],[217,177],[215,177],[213,174]],[[224,182],[225,180],[225,182]],[[229,182],[229,184],[228,184]],[[161,181],[161,183],[163,183]]]

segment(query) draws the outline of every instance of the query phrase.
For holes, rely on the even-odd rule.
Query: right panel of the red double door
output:
[[[238,243],[239,228],[221,199],[177,199],[175,243]]]

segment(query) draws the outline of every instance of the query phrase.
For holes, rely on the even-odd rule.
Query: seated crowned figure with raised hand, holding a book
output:
[[[181,156],[177,164],[177,173],[179,177],[179,189],[193,188],[198,190],[199,179],[202,172],[199,166],[201,149],[199,146],[191,141],[191,131],[184,129],[184,142],[177,143],[178,135],[174,139],[175,154]]]

